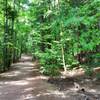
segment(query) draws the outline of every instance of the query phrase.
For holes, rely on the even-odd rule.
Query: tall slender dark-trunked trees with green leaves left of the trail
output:
[[[27,25],[20,22],[19,3],[16,0],[0,1],[0,71],[8,70],[20,58],[24,45],[22,32],[29,32]]]

